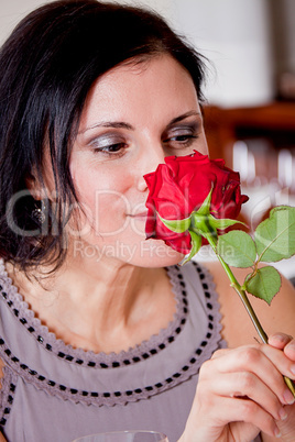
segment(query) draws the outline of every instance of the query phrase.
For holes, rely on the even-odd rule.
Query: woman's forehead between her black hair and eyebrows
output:
[[[172,56],[157,55],[140,63],[125,63],[99,77],[92,85],[81,114],[80,130],[97,118],[152,119],[159,112],[183,112],[198,107],[189,73]],[[173,115],[175,117],[175,115]]]

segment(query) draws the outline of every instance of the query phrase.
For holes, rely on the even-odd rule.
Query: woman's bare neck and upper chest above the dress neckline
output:
[[[13,280],[17,275],[11,275]],[[140,344],[165,328],[175,311],[163,268],[114,259],[69,261],[54,277],[44,279],[42,287],[24,277],[17,277],[15,284],[57,338],[95,352]]]

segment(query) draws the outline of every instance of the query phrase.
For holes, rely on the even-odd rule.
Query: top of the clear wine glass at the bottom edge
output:
[[[84,435],[73,442],[168,442],[168,439],[156,431],[128,430]]]

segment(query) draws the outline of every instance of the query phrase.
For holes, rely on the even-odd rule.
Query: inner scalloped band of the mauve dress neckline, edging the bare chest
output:
[[[0,278],[2,279],[2,296],[14,314],[19,318],[20,323],[26,328],[32,336],[34,336],[40,345],[43,345],[47,351],[55,353],[59,358],[69,363],[87,365],[89,367],[112,368],[120,365],[120,362],[125,365],[134,364],[146,357],[164,350],[172,343],[177,334],[182,331],[186,322],[188,313],[185,283],[178,266],[166,268],[172,291],[176,300],[176,311],[173,320],[159,333],[153,334],[149,340],[130,347],[128,351],[119,353],[96,353],[79,347],[74,347],[66,344],[62,339],[57,339],[55,333],[42,324],[36,318],[35,312],[29,307],[23,296],[13,285],[12,279],[8,276],[3,259],[0,261]]]

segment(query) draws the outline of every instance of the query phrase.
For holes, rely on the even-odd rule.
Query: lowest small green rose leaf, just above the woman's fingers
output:
[[[263,299],[269,305],[280,290],[282,280],[280,273],[274,267],[262,267],[245,280],[245,289],[256,298]]]

